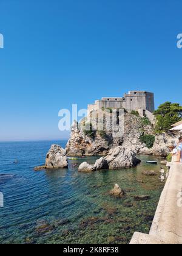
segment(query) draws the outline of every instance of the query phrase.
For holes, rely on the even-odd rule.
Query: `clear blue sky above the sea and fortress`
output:
[[[58,112],[129,90],[182,103],[181,0],[0,0],[0,140],[59,139]]]

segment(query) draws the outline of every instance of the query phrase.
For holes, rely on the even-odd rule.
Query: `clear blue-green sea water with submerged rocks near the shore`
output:
[[[94,157],[70,160],[69,169],[33,171],[44,164],[55,143],[66,145],[0,143],[0,243],[129,243],[133,232],[149,232],[164,186],[158,179],[160,165],[146,164],[156,157],[140,155],[137,168],[118,171],[78,173],[79,163],[93,163]],[[158,175],[144,176],[147,169]],[[109,195],[115,183],[126,191],[123,199]],[[149,195],[150,200],[135,201],[138,195]]]

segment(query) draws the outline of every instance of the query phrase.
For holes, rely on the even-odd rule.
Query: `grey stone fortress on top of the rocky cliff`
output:
[[[88,105],[88,113],[105,108],[126,109],[128,112],[134,110],[152,121],[152,113],[155,111],[154,94],[147,91],[129,91],[123,98],[102,98],[95,101],[95,104]]]

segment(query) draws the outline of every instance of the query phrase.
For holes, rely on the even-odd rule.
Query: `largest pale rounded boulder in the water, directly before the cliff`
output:
[[[130,168],[138,165],[141,161],[136,158],[136,154],[122,146],[110,149],[106,157],[109,169]]]

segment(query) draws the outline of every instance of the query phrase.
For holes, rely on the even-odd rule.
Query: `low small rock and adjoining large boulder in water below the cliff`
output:
[[[130,168],[138,165],[141,161],[136,158],[136,154],[129,149],[125,149],[122,146],[110,149],[109,154],[106,157],[99,158],[95,165],[89,165],[84,162],[78,168],[80,172],[92,172],[100,169],[122,169]]]

